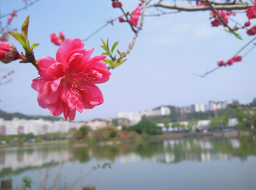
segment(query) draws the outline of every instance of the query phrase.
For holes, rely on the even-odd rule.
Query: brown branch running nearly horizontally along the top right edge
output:
[[[161,8],[168,8],[168,9],[173,9],[173,10],[186,11],[186,12],[212,10],[210,6],[185,7],[185,6],[173,6],[171,4],[163,4],[163,3],[156,3],[156,4],[153,4],[151,6],[161,7]],[[252,6],[253,6],[252,3],[248,3],[248,4],[224,4],[224,5],[214,5],[214,6],[212,6],[212,8],[217,9],[217,10],[245,10],[246,8],[250,8]]]

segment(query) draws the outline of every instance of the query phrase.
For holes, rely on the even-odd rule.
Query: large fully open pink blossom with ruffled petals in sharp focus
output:
[[[38,59],[38,74],[32,88],[38,91],[38,104],[54,116],[64,114],[65,120],[74,120],[76,110],[92,109],[103,103],[103,95],[95,84],[105,83],[110,72],[102,59],[90,58],[93,49],[83,49],[79,39],[68,38],[51,57]]]

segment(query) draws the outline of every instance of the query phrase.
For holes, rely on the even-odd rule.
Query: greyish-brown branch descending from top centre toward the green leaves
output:
[[[141,31],[141,29],[142,29],[142,26],[143,26],[143,19],[144,19],[144,14],[145,14],[146,6],[147,6],[147,0],[145,0],[144,3],[143,3],[143,8],[142,8],[142,11],[141,11],[140,26],[138,27],[138,29],[137,29],[135,35],[133,36],[132,42],[131,42],[131,44],[129,45],[128,49],[122,54],[122,59],[123,59],[127,54],[129,54],[129,52],[132,50],[132,47],[133,47],[133,45],[135,44],[136,38],[138,37],[138,33],[139,33],[139,32]],[[116,64],[116,61],[117,61],[117,59],[113,62],[112,67],[108,67],[108,69],[114,68],[114,67],[115,67],[115,64]]]

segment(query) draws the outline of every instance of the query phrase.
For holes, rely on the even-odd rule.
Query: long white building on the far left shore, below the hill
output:
[[[0,135],[17,135],[33,133],[46,134],[49,132],[68,132],[69,129],[79,128],[79,123],[48,120],[25,120],[13,118],[13,120],[3,120],[0,118]]]

